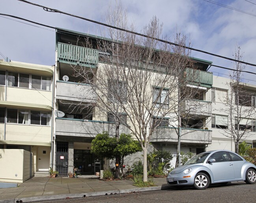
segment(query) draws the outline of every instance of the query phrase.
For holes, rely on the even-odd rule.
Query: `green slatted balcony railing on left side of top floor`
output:
[[[92,48],[78,47],[58,43],[58,61],[73,65],[96,67],[99,62],[99,51]]]

